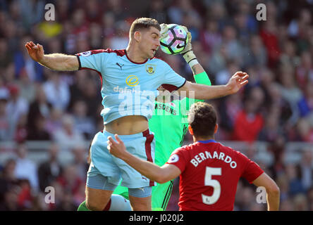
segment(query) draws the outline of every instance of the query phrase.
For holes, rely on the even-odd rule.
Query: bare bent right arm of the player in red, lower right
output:
[[[278,211],[280,191],[275,181],[266,173],[263,173],[252,183],[256,186],[263,186],[266,189],[267,210]]]

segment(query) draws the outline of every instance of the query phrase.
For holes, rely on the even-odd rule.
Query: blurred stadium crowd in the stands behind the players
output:
[[[44,20],[54,4],[55,21]],[[266,21],[256,6],[266,5]],[[216,139],[245,153],[281,188],[281,210],[313,210],[312,0],[0,1],[0,210],[76,210],[85,198],[87,149],[103,129],[97,73],[54,72],[27,56],[124,49],[137,17],[177,23],[213,84],[249,73],[240,93],[209,101],[219,112]],[[181,56],[158,56],[193,81]],[[191,143],[191,136],[185,143]],[[55,204],[44,203],[47,186]],[[266,210],[240,181],[235,210]],[[178,179],[168,210],[178,210]]]

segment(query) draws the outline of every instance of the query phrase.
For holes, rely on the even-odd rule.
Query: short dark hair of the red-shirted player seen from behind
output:
[[[216,121],[217,115],[213,105],[204,102],[198,102],[191,105],[188,115],[188,123],[192,128],[194,136],[214,136]]]

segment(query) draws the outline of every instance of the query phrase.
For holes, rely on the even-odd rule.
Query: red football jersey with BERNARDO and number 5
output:
[[[242,153],[214,140],[176,149],[168,162],[181,171],[179,210],[233,210],[240,177],[252,183],[263,170]]]

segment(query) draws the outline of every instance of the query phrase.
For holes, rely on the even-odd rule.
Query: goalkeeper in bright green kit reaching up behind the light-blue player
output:
[[[187,28],[184,27],[186,32]],[[167,32],[166,25],[161,25],[161,35]],[[211,85],[210,79],[202,66],[197,62],[197,58],[192,51],[191,34],[188,32],[188,44],[181,52],[186,60],[197,84]],[[170,89],[166,84],[159,88],[159,91]],[[180,94],[181,96],[181,94]],[[170,157],[173,150],[179,148],[183,144],[183,139],[188,131],[188,110],[192,103],[203,100],[192,98],[183,98],[171,101],[173,96],[158,96],[154,102],[154,113],[149,120],[149,129],[154,133],[156,140],[155,146],[155,164],[162,166]],[[143,177],[144,178],[144,177]],[[144,178],[145,179],[145,178]],[[173,189],[173,181],[168,181],[164,184],[156,184],[152,187],[152,210],[165,211],[168,200]],[[123,197],[121,197],[123,196]],[[115,201],[120,201],[121,207],[114,207],[110,210],[130,210],[128,201],[128,188],[118,186],[111,198],[116,198]],[[127,206],[129,205],[129,206]],[[88,211],[85,201],[80,204],[78,211]]]

